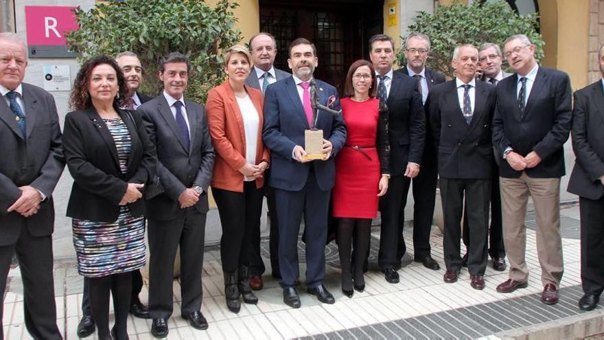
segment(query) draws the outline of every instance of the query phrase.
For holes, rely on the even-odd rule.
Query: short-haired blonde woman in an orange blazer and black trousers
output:
[[[220,258],[227,307],[239,313],[240,297],[257,304],[249,284],[254,256],[251,240],[259,240],[262,185],[268,150],[262,144],[262,92],[244,83],[251,69],[246,47],[235,45],[224,56],[227,80],[211,89],[207,116],[216,160],[211,181],[222,225]],[[257,235],[256,237],[253,237]]]

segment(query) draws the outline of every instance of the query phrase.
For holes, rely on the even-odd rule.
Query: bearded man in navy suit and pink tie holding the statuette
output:
[[[307,292],[317,295],[324,304],[333,304],[334,297],[323,286],[325,277],[325,240],[327,240],[327,212],[329,195],[335,183],[334,158],[346,141],[346,127],[341,115],[316,110],[316,120],[310,99],[310,88],[319,104],[340,109],[338,91],[312,73],[317,66],[316,48],[305,38],[297,38],[290,45],[288,65],[293,77],[286,78],[266,89],[264,98],[264,144],[272,151],[269,185],[275,188],[277,218],[279,218],[279,269],[283,302],[292,308],[300,307],[296,291],[299,277],[298,234],[304,216],[306,235]],[[310,128],[323,131],[323,154],[326,160],[309,160],[303,145],[305,131]]]

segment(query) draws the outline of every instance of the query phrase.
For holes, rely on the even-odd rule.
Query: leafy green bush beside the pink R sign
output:
[[[88,12],[77,8],[80,30],[67,35],[80,62],[96,55],[131,51],[143,69],[142,91],[159,94],[163,84],[156,71],[165,54],[181,52],[191,60],[187,98],[205,102],[209,89],[224,80],[223,49],[241,39],[234,28],[237,3],[220,0],[211,7],[202,0],[128,0],[97,4]]]

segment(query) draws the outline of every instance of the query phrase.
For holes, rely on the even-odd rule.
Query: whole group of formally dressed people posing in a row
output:
[[[52,192],[65,164],[73,177],[67,216],[73,220],[78,271],[84,276],[80,337],[97,328],[99,339],[127,339],[129,313],[152,319],[152,335],[166,337],[176,251],[181,315],[194,328],[208,327],[200,307],[209,187],[222,226],[225,302],[233,313],[241,302],[257,304],[253,291],[264,285],[259,248],[264,196],[272,276],[280,280],[283,302],[299,308],[302,218],[305,287],[320,302],[335,302],[324,285],[330,217],[337,220],[344,295],[364,291],[371,220],[378,211],[377,262],[385,280],[397,283],[412,181],[414,260],[440,269],[430,253],[438,185],[443,280],[456,282],[467,267],[471,286],[483,289],[489,256],[497,271],[506,269],[507,256],[509,280],[497,286],[500,293],[528,283],[524,218],[530,195],[537,216],[542,302],[555,304],[563,273],[559,187],[571,125],[577,163],[568,190],[580,196],[585,291],[579,307],[595,308],[604,288],[599,229],[604,218],[604,121],[599,117],[604,82],[577,91],[573,112],[568,76],[539,66],[535,46],[524,35],[510,36],[504,53],[493,43],[459,45],[452,52],[455,74],[449,81],[426,68],[430,38],[424,34],[406,38],[407,64],[396,71],[391,37],[377,34],[368,45],[369,60],[351,65],[340,100],[334,86],[313,77],[318,58],[312,42],[297,38],[291,43],[290,74],[273,66],[275,38],[256,34],[249,49],[235,45],[225,51],[227,79],[209,91],[205,107],[185,99],[191,65],[181,53],[161,60],[163,91],[156,98],[139,92],[142,67],[135,54],[96,56],[75,78],[74,111],[65,116],[61,133],[52,95],[23,82],[25,44],[15,34],[0,34],[5,98],[0,100],[5,146],[0,284],[5,286],[16,253],[30,334],[61,338],[51,234]],[[502,71],[504,59],[515,73]],[[604,76],[602,48],[599,62]],[[312,131],[323,135],[321,159],[305,150],[305,136]],[[148,306],[138,297],[139,269],[146,264],[145,225]]]

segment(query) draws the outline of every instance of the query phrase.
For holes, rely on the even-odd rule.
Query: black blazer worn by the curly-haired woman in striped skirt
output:
[[[122,172],[115,141],[94,106],[65,116],[63,145],[67,168],[73,177],[67,216],[112,223],[119,215],[128,183],[147,184],[155,174],[155,148],[143,120],[135,112],[117,110],[132,138],[128,170]],[[145,201],[128,204],[132,216],[145,213]]]

